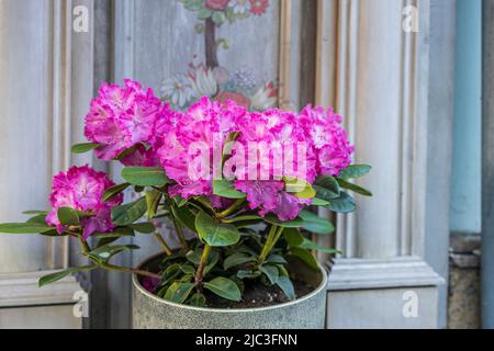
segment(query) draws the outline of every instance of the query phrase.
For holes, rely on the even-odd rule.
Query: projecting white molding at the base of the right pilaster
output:
[[[336,259],[328,291],[437,286],[446,281],[419,257],[393,259]]]

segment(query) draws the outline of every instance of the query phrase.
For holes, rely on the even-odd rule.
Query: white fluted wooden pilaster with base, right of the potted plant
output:
[[[403,31],[406,5],[419,10],[418,33]],[[356,145],[355,162],[373,166],[358,183],[374,194],[357,195],[357,212],[338,215],[336,244],[344,254],[329,276],[329,305],[335,308],[328,309],[328,326],[358,326],[366,309],[362,298],[380,306],[389,296],[384,291],[428,286],[436,294],[424,298],[436,320],[423,326],[441,327],[454,5],[321,0],[318,8],[316,102],[344,115]],[[367,310],[375,316],[362,326],[409,326],[393,319],[395,312],[389,308]],[[379,321],[385,318],[392,322]]]

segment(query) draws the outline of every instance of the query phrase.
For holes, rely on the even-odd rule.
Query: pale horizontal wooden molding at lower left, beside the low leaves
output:
[[[42,288],[37,286],[41,276],[54,272],[0,274],[0,308],[75,304],[74,294],[82,288],[72,275]]]

